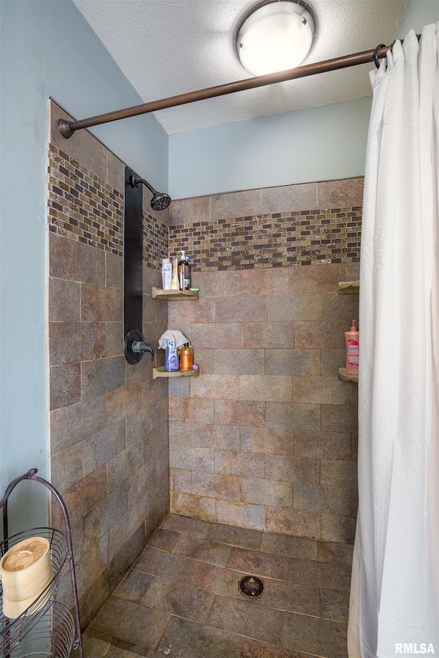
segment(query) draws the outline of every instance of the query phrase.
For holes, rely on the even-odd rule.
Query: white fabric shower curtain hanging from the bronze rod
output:
[[[370,74],[349,658],[439,657],[438,26]]]

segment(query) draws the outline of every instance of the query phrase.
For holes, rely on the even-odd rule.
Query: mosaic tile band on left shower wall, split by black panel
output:
[[[123,255],[123,194],[80,162],[49,144],[49,231]],[[168,226],[143,213],[143,260],[161,270]]]

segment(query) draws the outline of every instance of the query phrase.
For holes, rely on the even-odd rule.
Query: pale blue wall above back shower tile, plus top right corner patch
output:
[[[397,37],[437,21],[438,0],[409,0]],[[171,197],[364,175],[371,104],[369,96],[173,134]]]

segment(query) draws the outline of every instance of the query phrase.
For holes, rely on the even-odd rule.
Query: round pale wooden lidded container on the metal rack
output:
[[[3,614],[15,619],[40,596],[53,578],[49,541],[44,537],[30,537],[12,546],[0,561],[3,583]],[[43,596],[32,612],[47,602]]]

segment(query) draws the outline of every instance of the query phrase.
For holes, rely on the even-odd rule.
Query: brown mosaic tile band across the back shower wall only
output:
[[[169,228],[198,271],[359,261],[361,206],[196,221]]]

